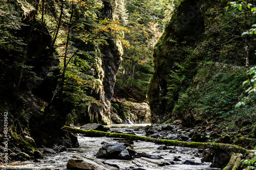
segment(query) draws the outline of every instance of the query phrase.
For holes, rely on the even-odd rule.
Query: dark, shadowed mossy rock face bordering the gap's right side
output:
[[[176,86],[172,90],[167,89],[167,84],[172,80],[169,75],[179,68],[176,63],[186,60],[188,50],[186,46],[194,47],[204,31],[204,20],[200,7],[203,1],[181,1],[172,16],[169,25],[159,39],[154,50],[155,73],[151,79],[147,100],[150,102],[152,122],[161,122],[164,116],[171,113],[174,102],[178,99],[180,87]],[[195,69],[196,61],[200,58],[191,58],[188,65]],[[189,70],[193,76],[193,69]],[[173,102],[167,102],[167,92],[172,93]],[[168,104],[168,106],[167,106]]]

